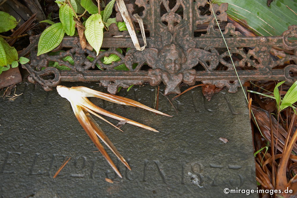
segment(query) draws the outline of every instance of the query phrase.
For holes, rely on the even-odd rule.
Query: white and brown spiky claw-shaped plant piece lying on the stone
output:
[[[107,120],[105,120],[104,118],[102,118],[100,115],[98,115],[97,113],[100,113],[102,115],[108,116],[110,118],[114,118],[117,119],[119,121],[126,121],[129,124],[135,125],[135,126],[139,126],[141,128],[144,129],[148,129],[150,131],[154,131],[154,132],[159,132],[154,128],[151,128],[149,126],[146,126],[144,124],[135,122],[133,120],[130,120],[128,118],[124,118],[122,116],[116,115],[114,113],[111,113],[107,110],[104,110],[98,106],[96,106],[95,104],[93,104],[92,102],[89,101],[89,99],[87,99],[87,97],[97,97],[100,99],[104,99],[107,100],[109,102],[114,102],[117,104],[124,104],[124,105],[129,105],[129,106],[133,106],[133,107],[140,107],[149,111],[152,111],[154,113],[158,113],[161,115],[166,115],[169,117],[172,117],[171,115],[167,115],[165,113],[162,113],[160,111],[157,111],[155,109],[152,109],[150,107],[147,107],[139,102],[136,102],[134,100],[128,99],[128,98],[124,98],[121,96],[115,96],[115,95],[111,95],[111,94],[105,94],[102,93],[100,91],[95,91],[93,89],[87,88],[87,87],[65,87],[65,86],[61,86],[58,85],[57,86],[57,91],[58,93],[66,98],[73,109],[73,112],[76,116],[76,118],[78,119],[79,123],[81,124],[81,126],[83,126],[83,129],[86,131],[86,133],[89,135],[89,137],[91,138],[91,140],[94,142],[94,144],[96,145],[96,147],[99,149],[100,153],[105,157],[105,159],[108,161],[108,163],[110,164],[110,166],[113,168],[113,170],[119,175],[119,177],[122,178],[121,173],[119,172],[119,170],[116,168],[116,165],[113,163],[113,161],[110,159],[110,156],[108,155],[108,153],[105,151],[104,147],[102,146],[102,144],[99,142],[98,137],[105,143],[105,145],[108,146],[108,148],[119,158],[119,160],[129,169],[131,170],[129,164],[126,162],[126,160],[121,156],[121,154],[117,151],[117,149],[115,148],[115,146],[113,145],[113,143],[108,139],[108,137],[106,136],[106,134],[102,131],[102,129],[100,128],[100,126],[94,121],[94,119],[91,117],[90,113],[97,116],[98,118],[104,120],[105,122],[108,122]],[[112,126],[116,127],[115,125],[113,125],[112,123],[108,122],[109,124],[111,124]],[[117,129],[119,129],[118,127],[116,127]],[[121,129],[119,129],[121,131]],[[97,137],[98,136],[98,137]]]

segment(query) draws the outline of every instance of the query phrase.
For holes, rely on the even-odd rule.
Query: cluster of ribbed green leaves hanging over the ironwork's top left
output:
[[[59,18],[61,22],[42,21],[51,24],[51,26],[40,35],[37,56],[57,47],[65,34],[68,36],[79,35],[80,38],[85,38],[98,56],[103,41],[104,27],[108,29],[112,23],[116,23],[120,31],[127,30],[124,22],[116,22],[115,18],[110,18],[115,0],[110,1],[102,11],[92,0],[60,0],[55,2],[60,7]],[[97,2],[99,5],[99,0]],[[85,16],[86,12],[91,14],[89,18],[82,17]]]

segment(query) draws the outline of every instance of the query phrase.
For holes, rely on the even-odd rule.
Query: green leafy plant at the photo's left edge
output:
[[[18,22],[16,19],[6,12],[0,11],[0,33],[9,31],[17,26]],[[18,59],[18,52],[14,47],[11,47],[4,36],[0,35],[0,74],[3,71],[14,68],[20,64],[26,64],[29,62],[28,58],[20,57]],[[9,38],[9,37],[8,37]]]

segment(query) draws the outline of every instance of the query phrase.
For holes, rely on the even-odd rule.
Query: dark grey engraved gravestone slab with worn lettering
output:
[[[96,83],[63,85],[106,91]],[[155,92],[145,85],[119,94],[154,107]],[[159,110],[172,118],[91,98],[160,131],[125,124],[123,133],[94,118],[129,161],[132,171],[108,151],[122,179],[93,152],[96,147],[65,98],[30,83],[18,85],[16,94],[21,93],[13,102],[0,102],[0,197],[246,197],[223,190],[256,189],[248,110],[240,91],[222,91],[208,102],[195,88],[173,101],[178,114],[160,94]],[[220,137],[229,142],[224,144]],[[72,158],[54,179],[66,156]]]

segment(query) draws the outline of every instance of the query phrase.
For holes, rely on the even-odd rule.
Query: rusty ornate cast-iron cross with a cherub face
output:
[[[95,52],[81,49],[78,37],[65,37],[61,45],[53,50],[68,48],[59,55],[37,56],[35,50],[39,36],[32,37],[31,44],[23,51],[23,54],[31,52],[31,63],[23,65],[30,73],[29,81],[37,81],[46,91],[59,85],[61,81],[100,81],[102,85],[108,87],[111,94],[115,94],[120,86],[127,88],[144,82],[149,82],[152,86],[163,82],[166,85],[165,94],[178,94],[182,82],[194,85],[196,81],[202,81],[218,87],[226,86],[229,92],[236,92],[239,82],[233,65],[228,62],[230,57],[222,35],[215,28],[214,15],[211,10],[211,15],[203,15],[200,11],[207,2],[176,0],[175,5],[171,4],[172,1],[165,0],[136,0],[135,4],[127,4],[129,14],[135,23],[137,20],[132,12],[139,10],[140,7],[144,8],[142,15],[141,13],[139,15],[149,31],[149,37],[147,37],[147,47],[143,51],[135,50],[129,37],[113,37],[128,35],[127,31],[119,31],[115,24],[104,33],[102,48],[110,49],[97,57]],[[162,12],[166,10],[165,13],[161,13],[161,7]],[[213,4],[220,22],[227,21],[225,12],[227,8],[228,4],[220,6]],[[116,18],[117,21],[122,20],[119,12]],[[197,26],[205,23],[208,23],[207,33],[194,34]],[[223,34],[234,56],[235,66],[241,67],[238,75],[242,82],[286,80],[287,84],[292,84],[296,81],[294,73],[297,72],[297,42],[288,41],[288,38],[297,37],[296,25],[289,26],[282,36],[243,37],[240,32],[235,31],[232,23],[228,23]],[[128,47],[131,49],[125,55],[116,50]],[[279,47],[284,50],[280,50]],[[103,64],[101,59],[111,54],[119,56],[121,60]],[[63,61],[62,58],[66,56],[71,56],[75,64]],[[94,61],[89,61],[86,56],[93,57]],[[280,56],[282,58],[279,58]],[[49,67],[49,61],[56,61],[71,70]],[[94,70],[96,64],[103,70]],[[129,71],[114,69],[121,64],[125,64]],[[278,65],[284,64],[285,67],[277,68]],[[150,69],[143,69],[144,65],[148,65]],[[201,71],[196,69],[199,66]],[[54,77],[46,80],[45,76],[49,74],[53,74]]]

